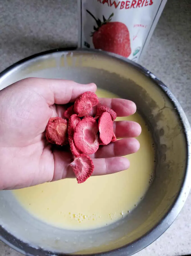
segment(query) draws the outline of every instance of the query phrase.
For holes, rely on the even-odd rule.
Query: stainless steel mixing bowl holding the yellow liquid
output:
[[[190,126],[169,89],[125,58],[88,50],[55,50],[26,58],[0,75],[0,89],[29,76],[95,82],[133,100],[153,133],[156,175],[142,202],[126,218],[90,231],[70,231],[35,220],[0,192],[0,239],[26,255],[132,255],[172,224],[190,190]],[[22,215],[21,215],[22,212]]]

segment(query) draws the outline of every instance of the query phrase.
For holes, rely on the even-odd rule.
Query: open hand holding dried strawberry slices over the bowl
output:
[[[16,189],[74,177],[69,167],[70,152],[52,150],[45,139],[50,117],[61,116],[64,104],[85,91],[96,91],[95,84],[56,79],[26,78],[0,91],[0,189]],[[124,99],[100,99],[118,116],[132,115],[133,102]],[[128,169],[127,154],[139,149],[141,128],[136,122],[114,122],[117,137],[125,137],[100,148],[93,157],[93,175]]]

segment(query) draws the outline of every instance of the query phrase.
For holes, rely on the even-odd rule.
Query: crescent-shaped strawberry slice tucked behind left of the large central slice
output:
[[[69,136],[70,150],[74,156],[78,156],[82,154],[82,152],[78,148],[76,148],[76,146],[74,145],[74,139],[73,139],[74,130],[79,121],[81,121],[81,119],[76,114],[71,115],[68,121],[68,136]]]

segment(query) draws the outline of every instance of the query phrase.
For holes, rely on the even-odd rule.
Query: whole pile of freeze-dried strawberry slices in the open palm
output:
[[[47,141],[60,146],[69,143],[74,161],[70,163],[78,183],[89,178],[94,171],[92,159],[99,145],[108,145],[117,140],[113,132],[115,111],[105,106],[97,106],[95,93],[82,93],[72,106],[64,112],[64,119],[52,117],[46,126]],[[94,116],[90,114],[96,107]]]

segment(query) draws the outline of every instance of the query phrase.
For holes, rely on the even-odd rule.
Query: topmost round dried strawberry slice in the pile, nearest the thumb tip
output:
[[[82,93],[74,102],[74,112],[79,117],[85,117],[89,115],[94,106],[97,106],[99,100],[97,95],[91,91]]]

